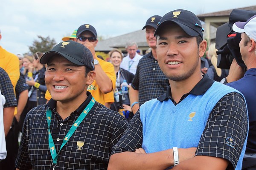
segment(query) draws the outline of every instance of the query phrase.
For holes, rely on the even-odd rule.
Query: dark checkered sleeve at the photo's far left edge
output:
[[[14,94],[11,79],[3,68],[0,69],[0,88],[3,96],[6,98],[4,108],[17,106],[16,96]]]

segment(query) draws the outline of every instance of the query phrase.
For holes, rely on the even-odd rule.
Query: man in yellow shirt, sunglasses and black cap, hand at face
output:
[[[87,90],[91,92],[97,102],[110,108],[110,104],[114,102],[113,89],[116,85],[116,75],[113,65],[99,59],[95,54],[94,48],[98,43],[96,29],[90,24],[81,25],[76,32],[76,42],[89,48],[93,54],[96,78]]]

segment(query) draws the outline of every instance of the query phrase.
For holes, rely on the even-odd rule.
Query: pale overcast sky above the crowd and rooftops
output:
[[[115,37],[143,28],[152,15],[175,9],[197,14],[256,5],[255,0],[0,0],[0,45],[26,53],[37,35],[61,42],[83,24],[98,36]],[[45,52],[45,51],[44,51]]]

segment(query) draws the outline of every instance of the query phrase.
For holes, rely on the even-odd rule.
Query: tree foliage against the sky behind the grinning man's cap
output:
[[[40,51],[40,52],[47,52],[50,51],[54,45],[56,45],[56,42],[53,39],[50,39],[50,37],[42,37],[40,35],[38,35],[38,39],[39,40],[34,40],[32,46],[29,46],[29,51],[32,54],[35,54],[36,52]]]

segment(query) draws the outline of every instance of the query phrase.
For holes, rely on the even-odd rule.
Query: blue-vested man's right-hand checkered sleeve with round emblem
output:
[[[247,108],[241,94],[222,97],[209,115],[195,156],[213,156],[230,161],[235,169],[247,136]]]

